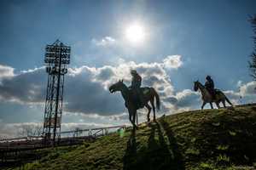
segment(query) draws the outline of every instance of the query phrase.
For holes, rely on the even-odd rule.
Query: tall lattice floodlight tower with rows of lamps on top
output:
[[[61,112],[63,101],[64,75],[70,63],[70,47],[56,40],[46,45],[44,63],[48,82],[44,110],[44,140],[55,145],[61,138]]]

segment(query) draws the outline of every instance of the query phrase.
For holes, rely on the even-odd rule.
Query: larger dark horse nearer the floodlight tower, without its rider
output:
[[[141,90],[143,90],[143,98],[145,101],[145,105],[143,105],[143,107],[146,106],[148,108],[148,122],[150,121],[149,115],[152,108],[154,111],[154,121],[155,121],[154,98],[156,99],[156,109],[160,110],[159,94],[157,94],[154,88],[146,87],[146,88],[141,88]],[[137,127],[135,124],[135,120],[137,116],[137,110],[140,108],[137,106],[136,96],[134,96],[134,93],[132,93],[131,89],[127,88],[127,86],[123,81],[116,82],[109,87],[109,92],[111,94],[117,91],[121,92],[123,98],[125,99],[125,107],[128,109],[129,120],[131,124],[133,125],[133,127]],[[150,101],[151,106],[148,105],[148,101]]]

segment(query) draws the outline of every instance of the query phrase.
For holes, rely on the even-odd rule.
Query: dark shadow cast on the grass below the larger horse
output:
[[[183,170],[183,157],[167,123],[152,122],[148,127],[150,132],[147,147],[140,145],[142,142],[136,140],[136,131],[131,132],[125,150],[123,169]]]

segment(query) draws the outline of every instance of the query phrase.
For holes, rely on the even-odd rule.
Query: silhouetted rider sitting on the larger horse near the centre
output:
[[[131,77],[131,90],[138,96],[139,106],[142,107],[144,105],[143,94],[140,90],[142,85],[142,77],[138,75],[136,70],[131,70]]]

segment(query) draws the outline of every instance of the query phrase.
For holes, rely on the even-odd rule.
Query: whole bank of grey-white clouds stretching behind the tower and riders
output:
[[[170,61],[172,59],[175,61]],[[124,79],[128,86],[131,83],[131,69],[136,69],[143,77],[143,86],[154,87],[160,94],[162,112],[173,113],[199,108],[201,95],[190,89],[175,91],[172,80],[167,74],[169,69],[177,69],[181,65],[181,56],[174,55],[154,63],[137,64],[122,59],[119,65],[102,67],[84,65],[69,68],[65,78],[63,111],[73,114],[113,116],[115,117],[113,119],[119,119],[122,117],[119,115],[127,112],[124,99],[120,94],[110,94],[108,87],[119,79]],[[46,84],[47,74],[44,67],[21,71],[15,75],[10,74],[9,77],[3,77],[0,84],[0,101],[19,102],[24,105],[44,104]],[[256,97],[255,86],[256,82],[241,83],[239,91],[225,91],[225,93],[236,103],[241,99],[240,96],[246,101],[252,101]]]

